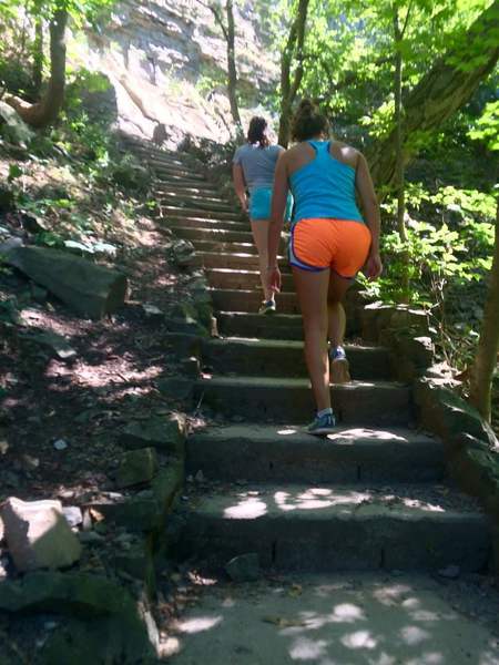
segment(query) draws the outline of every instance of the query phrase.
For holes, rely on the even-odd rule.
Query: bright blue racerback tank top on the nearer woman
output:
[[[294,223],[317,217],[364,223],[355,200],[355,168],[329,154],[329,141],[307,143],[315,150],[315,160],[289,176]]]

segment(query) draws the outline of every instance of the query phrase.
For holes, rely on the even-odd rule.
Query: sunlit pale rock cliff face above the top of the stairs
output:
[[[235,8],[240,92],[248,109],[262,103],[278,78],[278,55],[252,7],[240,2]],[[226,43],[198,0],[124,0],[105,29],[89,33],[79,49],[86,66],[110,78],[122,129],[151,136],[163,122],[171,144],[187,133],[230,137]]]

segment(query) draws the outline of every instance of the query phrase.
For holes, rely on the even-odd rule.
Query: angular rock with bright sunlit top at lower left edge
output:
[[[2,510],[6,541],[21,571],[61,569],[81,556],[81,544],[71,531],[60,501],[10,498]]]

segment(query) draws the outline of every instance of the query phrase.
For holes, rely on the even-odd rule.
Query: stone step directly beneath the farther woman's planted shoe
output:
[[[255,339],[303,339],[302,317],[297,314],[262,316],[245,311],[218,311],[218,332],[227,337]]]

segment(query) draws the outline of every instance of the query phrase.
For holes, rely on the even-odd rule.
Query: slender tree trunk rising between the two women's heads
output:
[[[284,147],[289,143],[289,126],[293,102],[299,90],[304,71],[304,43],[309,0],[298,0],[295,20],[289,29],[286,45],[281,58],[281,117],[278,142]],[[297,65],[292,82],[291,69],[296,55]]]

